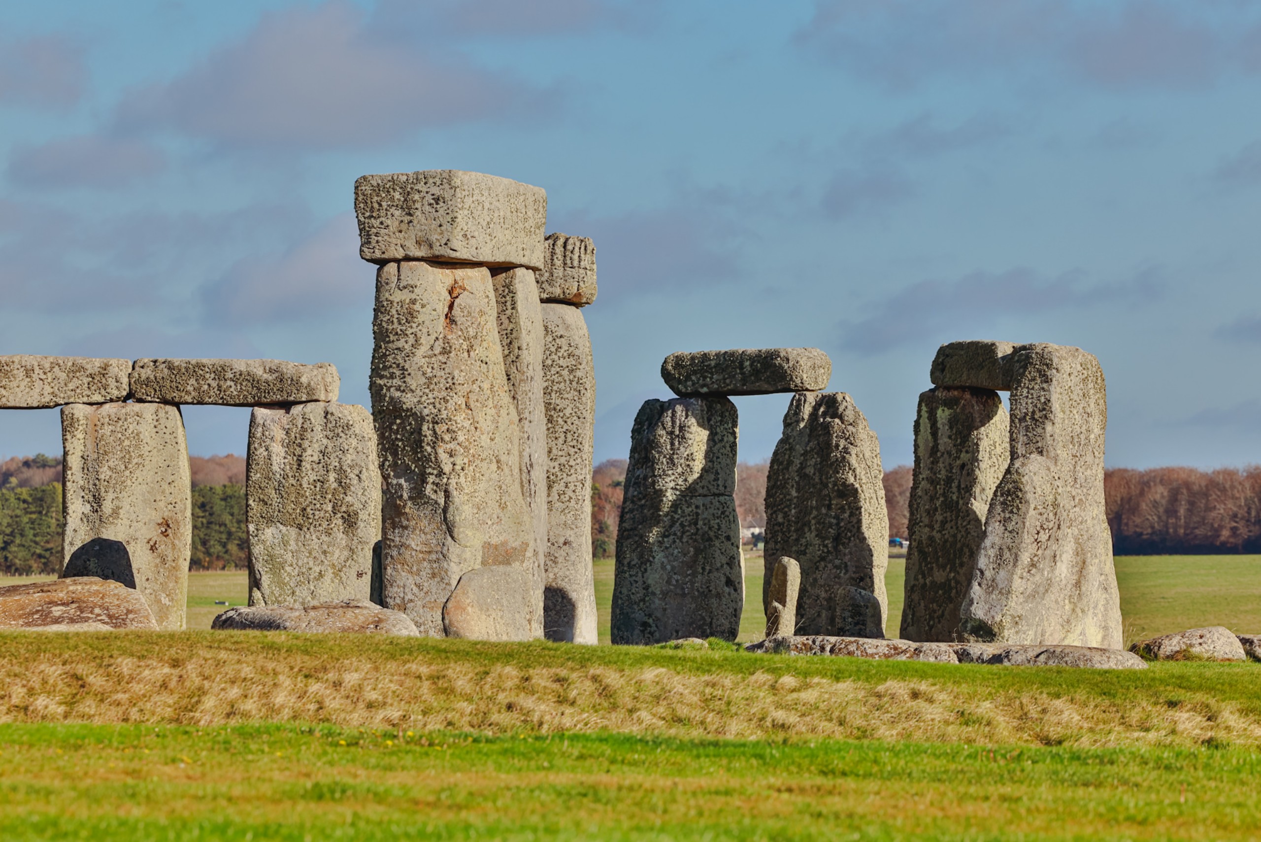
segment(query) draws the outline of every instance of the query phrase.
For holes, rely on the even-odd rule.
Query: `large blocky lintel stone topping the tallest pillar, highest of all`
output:
[[[359,256],[543,266],[547,193],[496,175],[424,170],[354,183]]]

